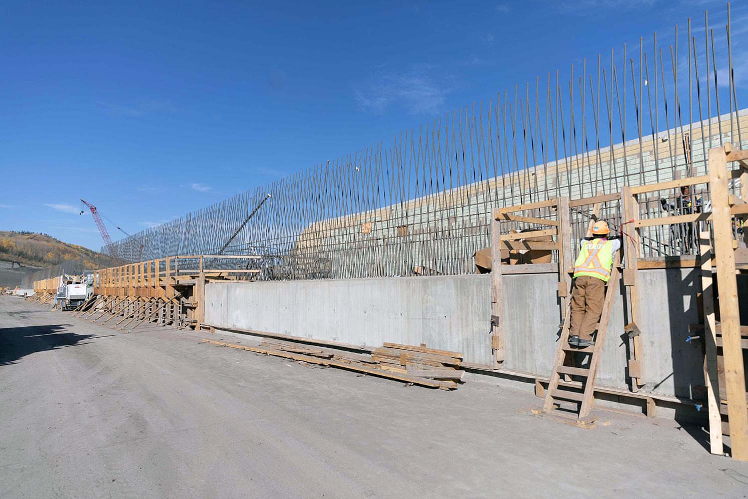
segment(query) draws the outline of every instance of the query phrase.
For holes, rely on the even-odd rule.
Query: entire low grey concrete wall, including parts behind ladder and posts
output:
[[[557,274],[503,279],[503,366],[548,376],[560,323]],[[369,346],[426,343],[490,364],[490,285],[490,275],[208,284],[206,322]],[[688,325],[697,322],[698,272],[642,270],[640,286],[644,391],[694,397],[694,386],[704,382],[701,344],[685,340]],[[620,388],[627,386],[624,291],[616,296],[598,373],[600,384]]]

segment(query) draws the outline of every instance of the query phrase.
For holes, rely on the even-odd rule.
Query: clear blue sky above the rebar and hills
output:
[[[79,198],[136,233],[624,42],[638,52],[705,8],[719,35],[726,16],[699,0],[104,3],[4,2],[0,230],[99,249]]]

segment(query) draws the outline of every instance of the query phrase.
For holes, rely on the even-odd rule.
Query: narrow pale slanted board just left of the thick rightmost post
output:
[[[714,323],[714,293],[711,278],[711,241],[709,232],[699,233],[701,263],[702,307],[704,309],[704,380],[709,409],[709,443],[712,454],[724,453],[722,444],[722,416],[720,414],[720,380],[717,370],[717,332]]]

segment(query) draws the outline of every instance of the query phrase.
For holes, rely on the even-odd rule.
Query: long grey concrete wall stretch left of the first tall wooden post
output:
[[[485,276],[207,284],[205,321],[355,345],[385,341],[491,360]]]

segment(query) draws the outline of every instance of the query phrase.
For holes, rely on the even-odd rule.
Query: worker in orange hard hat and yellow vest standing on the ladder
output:
[[[600,319],[605,300],[605,284],[613,269],[613,254],[621,249],[619,237],[608,239],[607,222],[596,221],[592,237],[580,240],[580,252],[574,262],[574,290],[571,292],[571,321],[568,344],[593,346],[592,333]]]

